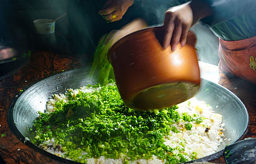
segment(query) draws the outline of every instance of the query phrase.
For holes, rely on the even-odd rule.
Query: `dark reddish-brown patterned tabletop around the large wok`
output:
[[[14,75],[0,81],[0,155],[7,164],[60,164],[28,147],[13,134],[8,126],[8,107],[21,89],[48,76],[85,66],[81,59],[53,52],[33,52],[29,62]],[[256,85],[231,75],[217,66],[199,62],[201,76],[231,90],[247,107],[250,124],[242,137],[256,137]],[[241,139],[242,139],[241,138]],[[211,161],[225,163],[224,157]]]

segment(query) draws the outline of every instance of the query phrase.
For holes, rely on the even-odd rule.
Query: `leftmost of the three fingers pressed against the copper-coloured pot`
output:
[[[162,46],[164,49],[166,49],[171,43],[173,30],[174,30],[173,16],[171,12],[168,12],[168,11],[166,12],[166,18],[163,25],[163,30],[164,30],[164,37],[163,37]]]

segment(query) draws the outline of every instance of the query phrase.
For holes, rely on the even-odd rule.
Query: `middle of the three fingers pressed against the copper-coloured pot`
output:
[[[172,51],[174,51],[176,49],[177,45],[180,43],[181,33],[182,33],[181,20],[176,19],[174,24],[175,24],[175,27],[173,29],[173,35],[172,35],[172,40],[171,40]]]

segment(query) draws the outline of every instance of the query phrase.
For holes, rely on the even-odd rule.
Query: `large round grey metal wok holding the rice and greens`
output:
[[[25,137],[30,137],[30,128],[33,121],[38,117],[38,111],[45,111],[47,99],[53,94],[65,93],[68,88],[79,88],[88,84],[95,84],[87,68],[75,69],[53,75],[40,82],[35,83],[15,99],[10,105],[8,113],[8,124],[13,133],[25,141]],[[209,161],[223,155],[226,145],[238,141],[248,127],[248,112],[241,100],[228,89],[213,82],[202,79],[199,93],[196,95],[198,100],[203,100],[210,104],[216,113],[223,115],[225,123],[224,135],[227,139],[222,142],[215,154],[197,159],[196,161]],[[218,108],[216,108],[218,106]],[[65,163],[76,163],[40,149],[30,141],[25,142],[31,148],[46,154],[47,156]]]

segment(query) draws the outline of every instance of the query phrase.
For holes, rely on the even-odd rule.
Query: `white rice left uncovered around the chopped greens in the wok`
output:
[[[100,88],[97,88],[98,90]],[[90,87],[81,87],[80,89],[68,89],[72,91],[72,95],[75,96],[80,92],[93,92],[94,88]],[[64,102],[68,101],[68,96],[65,94],[53,95],[46,105],[47,112],[54,111],[54,103],[56,101]],[[206,157],[208,155],[213,154],[218,149],[218,145],[223,141],[223,130],[224,123],[221,123],[222,116],[220,114],[214,113],[211,106],[205,104],[203,101],[198,101],[196,97],[189,99],[181,104],[178,104],[179,108],[176,110],[180,115],[182,113],[187,112],[188,115],[199,115],[203,119],[203,122],[200,124],[192,123],[191,130],[185,129],[185,124],[188,123],[186,121],[180,120],[179,123],[175,123],[172,126],[176,127],[180,133],[173,133],[170,131],[170,135],[166,137],[165,144],[169,145],[172,148],[184,148],[183,154],[187,153],[187,156],[190,157],[192,152],[197,153],[197,157]],[[209,129],[206,131],[206,127]],[[167,139],[169,138],[169,139]],[[43,146],[44,145],[44,146]],[[65,157],[65,153],[60,152],[58,149],[53,149],[55,147],[54,139],[48,140],[40,145],[46,151],[55,154],[60,157]],[[177,152],[175,152],[177,151]],[[175,150],[173,153],[179,153],[178,150]],[[86,154],[86,152],[84,152]],[[83,155],[83,154],[82,154]],[[88,164],[122,164],[124,162],[124,158],[119,159],[110,159],[105,157],[99,157],[98,159],[89,158],[87,159]],[[152,159],[145,160],[140,159],[136,161],[130,161],[130,164],[163,164],[164,160],[158,159],[156,156],[153,156]]]

